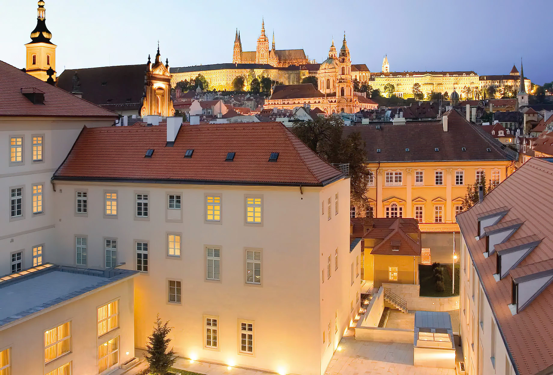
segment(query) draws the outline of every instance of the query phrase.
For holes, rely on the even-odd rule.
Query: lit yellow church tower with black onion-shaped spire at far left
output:
[[[54,70],[53,78],[55,80],[57,46],[50,41],[52,33],[46,28],[46,10],[42,0],[38,2],[37,13],[36,27],[31,33],[31,41],[25,44],[27,48],[25,70],[39,80],[46,81],[48,80],[46,71],[51,67]]]

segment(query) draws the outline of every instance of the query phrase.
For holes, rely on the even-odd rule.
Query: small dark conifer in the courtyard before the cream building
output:
[[[173,328],[169,326],[169,321],[165,323],[159,319],[159,314],[154,324],[152,335],[148,336],[146,350],[148,354],[144,355],[145,360],[150,365],[150,374],[165,375],[171,366],[176,362],[175,350],[167,351],[171,339],[167,338]]]

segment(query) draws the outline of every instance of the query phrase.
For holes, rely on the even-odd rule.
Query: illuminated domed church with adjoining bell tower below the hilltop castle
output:
[[[352,64],[346,35],[340,54],[334,41],[326,59],[317,71],[318,89],[310,83],[279,85],[273,88],[270,98],[265,101],[267,108],[293,109],[298,105],[310,104],[325,113],[355,113],[360,109],[377,108],[377,104],[353,92]]]

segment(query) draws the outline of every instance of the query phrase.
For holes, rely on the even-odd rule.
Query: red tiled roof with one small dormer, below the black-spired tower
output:
[[[22,89],[44,93],[44,104],[33,104]],[[111,110],[77,98],[0,61],[0,116],[118,118]]]

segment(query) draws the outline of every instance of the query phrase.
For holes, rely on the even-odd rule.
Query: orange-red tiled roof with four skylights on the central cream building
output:
[[[343,177],[277,122],[181,126],[174,146],[165,144],[165,125],[85,128],[54,179],[323,186]]]

